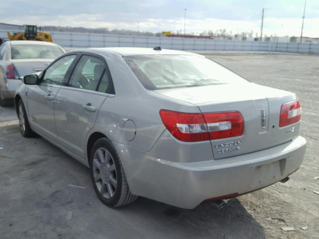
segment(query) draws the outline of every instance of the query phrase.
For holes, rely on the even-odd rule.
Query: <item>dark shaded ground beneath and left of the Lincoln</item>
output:
[[[95,196],[89,169],[41,137],[2,126],[0,147],[2,238],[265,238],[237,199],[222,209],[184,210],[146,198],[110,209]]]

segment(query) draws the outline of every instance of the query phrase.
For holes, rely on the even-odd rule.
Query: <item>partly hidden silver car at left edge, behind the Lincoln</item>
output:
[[[0,46],[0,105],[13,104],[19,77],[44,70],[65,53],[57,44],[43,41],[5,41]]]

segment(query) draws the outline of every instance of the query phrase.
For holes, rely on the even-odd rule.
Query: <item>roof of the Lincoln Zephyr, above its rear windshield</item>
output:
[[[177,50],[154,50],[153,48],[143,48],[143,47],[101,47],[101,48],[86,48],[86,49],[76,49],[71,51],[83,51],[92,53],[108,53],[115,52],[121,56],[136,56],[136,55],[197,55],[195,53]]]

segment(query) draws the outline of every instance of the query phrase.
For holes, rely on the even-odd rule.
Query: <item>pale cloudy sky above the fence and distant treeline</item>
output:
[[[304,0],[10,0],[2,1],[0,22],[186,33],[225,28],[233,33],[300,35]],[[304,36],[319,37],[319,0],[307,0]]]

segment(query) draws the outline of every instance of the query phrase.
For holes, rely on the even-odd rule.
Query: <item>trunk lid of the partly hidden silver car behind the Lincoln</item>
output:
[[[53,59],[12,59],[19,76],[25,76],[43,71]]]

